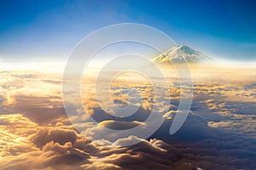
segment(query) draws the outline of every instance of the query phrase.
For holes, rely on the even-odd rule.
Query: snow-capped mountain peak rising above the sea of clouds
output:
[[[172,61],[177,63],[198,63],[213,61],[213,59],[207,57],[204,54],[201,54],[201,52],[196,51],[195,49],[189,48],[185,45],[181,45],[175,46],[153,59],[153,62],[155,63],[164,63],[166,61]]]

